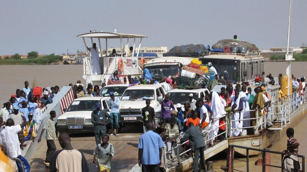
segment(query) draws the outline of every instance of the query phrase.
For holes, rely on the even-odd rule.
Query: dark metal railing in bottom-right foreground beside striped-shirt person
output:
[[[241,148],[241,149],[246,149],[246,160],[242,159],[235,159],[234,157],[234,149],[235,148]],[[278,151],[270,151],[268,149],[256,149],[256,148],[249,148],[249,147],[244,147],[244,146],[239,146],[239,145],[229,145],[228,146],[228,152],[227,152],[227,167],[228,167],[228,172],[233,172],[233,171],[240,171],[241,170],[235,169],[234,168],[234,160],[238,161],[243,161],[246,162],[246,167],[247,167],[247,172],[249,172],[249,151],[259,151],[262,152],[262,172],[266,171],[266,167],[275,167],[275,168],[281,168],[282,172],[284,172],[284,155],[286,155],[286,152],[278,152]],[[277,165],[271,165],[270,164],[270,154],[278,154],[281,155],[281,166]],[[267,157],[268,156],[268,157]],[[305,172],[305,156],[304,155],[297,155],[297,157],[301,158],[300,162],[302,163],[301,166],[301,172]]]

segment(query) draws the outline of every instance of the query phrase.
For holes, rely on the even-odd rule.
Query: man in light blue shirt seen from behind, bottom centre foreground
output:
[[[141,167],[142,164],[142,172],[159,171],[164,144],[160,135],[153,132],[152,122],[148,122],[146,128],[148,131],[138,142],[138,165]]]

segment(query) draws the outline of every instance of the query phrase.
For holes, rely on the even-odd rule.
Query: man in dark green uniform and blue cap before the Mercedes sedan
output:
[[[94,124],[94,133],[95,133],[95,141],[96,145],[101,144],[100,137],[106,134],[107,127],[104,122],[107,121],[107,117],[110,118],[110,115],[101,109],[101,104],[96,103],[96,110],[94,110],[91,114],[91,121]]]

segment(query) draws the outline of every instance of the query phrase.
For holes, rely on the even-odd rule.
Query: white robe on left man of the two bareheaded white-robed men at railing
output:
[[[231,98],[231,106],[233,104],[237,104],[237,107],[235,108],[235,110],[237,110],[239,108],[239,103],[240,103],[240,96],[237,98],[237,100],[235,101],[235,96]],[[243,117],[243,115],[241,115],[241,118]],[[231,113],[231,120],[238,120],[240,119],[240,112],[236,112],[236,113]],[[233,128],[240,128],[240,129],[234,129],[232,130],[232,136],[239,136],[239,134],[242,132],[242,121],[231,121],[231,129]]]

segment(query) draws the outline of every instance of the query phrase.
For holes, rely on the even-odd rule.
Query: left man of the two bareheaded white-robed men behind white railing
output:
[[[235,96],[231,98],[231,107],[233,104],[237,105],[235,110],[231,113],[231,120],[243,119],[243,115],[240,114],[240,111],[243,110],[243,99],[239,96],[239,94],[239,90],[235,90]],[[231,129],[237,128],[232,130],[232,136],[239,136],[239,134],[242,132],[242,123],[242,121],[231,122]]]

